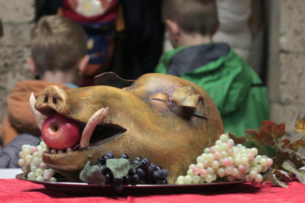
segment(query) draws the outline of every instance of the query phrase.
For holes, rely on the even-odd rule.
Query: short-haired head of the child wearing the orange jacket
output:
[[[30,48],[27,63],[41,79],[80,85],[89,57],[86,33],[79,24],[63,16],[42,17],[31,32]]]

